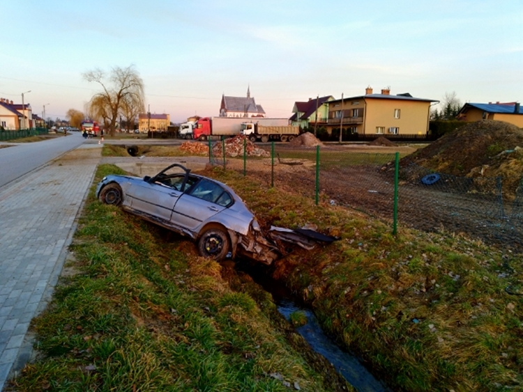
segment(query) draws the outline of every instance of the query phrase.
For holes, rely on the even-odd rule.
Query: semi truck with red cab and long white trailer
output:
[[[247,117],[204,117],[197,120],[192,131],[193,139],[207,140],[232,137],[241,134],[242,124],[259,123],[266,126],[284,126],[287,118],[247,118]]]

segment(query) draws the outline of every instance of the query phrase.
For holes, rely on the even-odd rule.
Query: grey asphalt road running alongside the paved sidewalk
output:
[[[0,187],[84,143],[79,132],[38,143],[0,148]],[[8,143],[3,143],[8,144]]]

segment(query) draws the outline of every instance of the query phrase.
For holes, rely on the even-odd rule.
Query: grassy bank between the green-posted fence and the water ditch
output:
[[[264,224],[316,224],[341,240],[294,253],[273,276],[400,391],[523,390],[521,255],[465,237],[391,228],[324,200],[213,173]]]

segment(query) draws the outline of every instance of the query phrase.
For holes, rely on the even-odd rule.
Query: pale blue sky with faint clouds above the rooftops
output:
[[[84,72],[129,66],[174,123],[248,88],[276,118],[367,86],[523,100],[522,0],[6,0],[0,15],[0,97],[52,119],[100,91]]]

